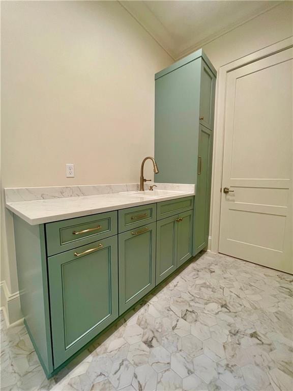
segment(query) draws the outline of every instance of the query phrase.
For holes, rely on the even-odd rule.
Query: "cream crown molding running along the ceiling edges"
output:
[[[255,12],[249,17],[244,17],[236,23],[229,24],[224,29],[219,30],[215,34],[212,34],[203,40],[196,41],[190,45],[182,45],[181,47],[178,46],[176,42],[174,42],[171,34],[165,29],[161,21],[143,2],[124,0],[119,1],[119,3],[143,27],[143,29],[153,37],[153,39],[170,55],[170,57],[174,61],[177,61],[192,53],[193,51],[201,48],[203,45],[207,45],[215,39],[229,33],[232,30],[237,29],[237,27],[241,26],[242,24],[245,24],[257,16],[262,15],[275,7],[278,7],[284,2],[272,1],[271,4],[265,9],[259,12]]]

